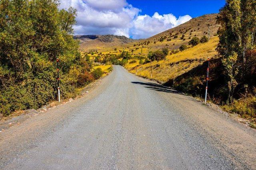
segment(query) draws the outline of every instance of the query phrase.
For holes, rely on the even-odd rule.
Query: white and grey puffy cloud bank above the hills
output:
[[[126,0],[60,0],[59,8],[72,6],[78,10],[74,26],[76,35],[124,35],[126,37],[147,38],[170,29],[191,19],[190,16],[172,14],[153,16],[139,15],[140,9]]]

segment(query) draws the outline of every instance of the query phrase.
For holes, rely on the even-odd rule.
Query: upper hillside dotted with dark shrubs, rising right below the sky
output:
[[[203,35],[208,36],[209,32],[210,37],[214,37],[219,28],[219,25],[216,24],[217,15],[218,14],[209,14],[198,18],[193,18],[192,20],[177,27],[168,29],[148,39],[138,40],[134,43],[112,47],[104,46],[101,47],[101,49],[98,48],[100,44],[96,46],[99,49],[98,51],[102,53],[114,53],[118,55],[120,52],[125,50],[130,52],[132,56],[147,56],[149,51],[155,51],[164,47],[168,47],[169,50],[175,50],[183,44],[188,44],[188,42],[195,36],[201,38]],[[174,38],[175,35],[178,37]],[[185,40],[180,39],[182,35],[184,35]],[[115,48],[117,49],[116,51],[114,50]]]

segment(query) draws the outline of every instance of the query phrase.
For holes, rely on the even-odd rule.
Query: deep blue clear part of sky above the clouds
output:
[[[192,18],[204,14],[218,13],[225,0],[127,0],[132,6],[142,10],[141,15],[150,16],[172,13],[174,16],[190,15]]]

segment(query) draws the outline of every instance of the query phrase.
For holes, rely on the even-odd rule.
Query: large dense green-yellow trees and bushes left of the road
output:
[[[90,65],[73,39],[76,10],[59,10],[56,0],[0,1],[0,113],[37,109],[91,81]],[[82,78],[80,80],[80,78]]]

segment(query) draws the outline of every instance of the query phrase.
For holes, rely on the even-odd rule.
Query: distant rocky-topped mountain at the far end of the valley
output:
[[[75,35],[74,39],[80,40],[80,49],[84,51],[102,50],[138,41],[118,35]]]

